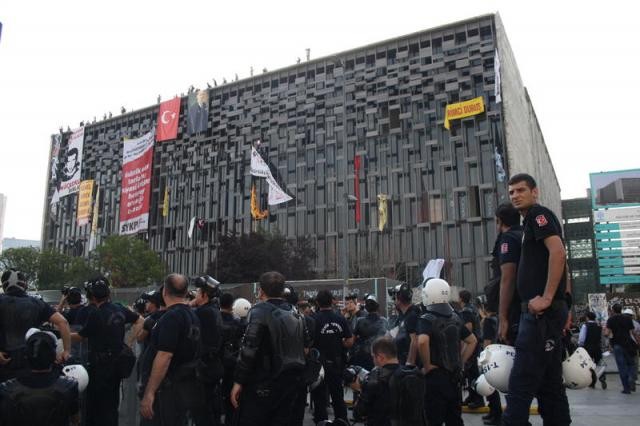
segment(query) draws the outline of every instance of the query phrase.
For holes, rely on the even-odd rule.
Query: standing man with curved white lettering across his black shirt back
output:
[[[320,290],[316,296],[319,311],[315,314],[313,347],[320,352],[324,368],[324,380],[312,392],[313,420],[327,420],[327,391],[336,419],[347,421],[347,406],[342,391],[342,371],[345,364],[345,349],[353,345],[353,335],[347,320],[333,311],[333,295]]]

